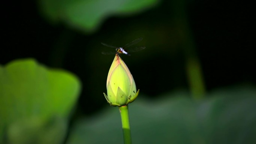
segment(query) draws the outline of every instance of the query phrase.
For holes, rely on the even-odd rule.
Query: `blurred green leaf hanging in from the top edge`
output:
[[[112,15],[131,15],[153,7],[159,0],[39,0],[51,22],[63,21],[82,31],[95,31]]]

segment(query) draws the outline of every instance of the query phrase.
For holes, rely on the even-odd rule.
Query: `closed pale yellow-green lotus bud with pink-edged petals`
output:
[[[123,106],[134,101],[140,90],[136,92],[134,79],[127,65],[116,55],[107,76],[107,95],[104,96],[112,106]]]

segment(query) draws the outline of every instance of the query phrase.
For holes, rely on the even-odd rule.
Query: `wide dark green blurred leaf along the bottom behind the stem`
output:
[[[133,144],[255,144],[255,88],[222,89],[202,101],[176,92],[129,105]],[[68,144],[123,143],[116,107],[76,122]]]

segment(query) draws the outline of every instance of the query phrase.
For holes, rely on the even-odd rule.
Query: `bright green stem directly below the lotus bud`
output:
[[[131,129],[130,129],[130,122],[129,122],[128,105],[119,107],[119,111],[121,114],[124,144],[131,144],[132,141],[131,141]]]

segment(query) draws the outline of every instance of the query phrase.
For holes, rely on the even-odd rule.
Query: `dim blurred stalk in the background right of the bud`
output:
[[[185,0],[172,1],[174,24],[176,25],[177,37],[181,40],[186,57],[186,72],[188,84],[193,99],[202,99],[205,96],[204,76],[201,63],[196,53],[196,44],[188,21],[187,2]]]

